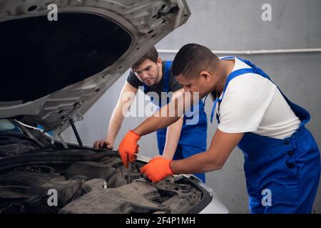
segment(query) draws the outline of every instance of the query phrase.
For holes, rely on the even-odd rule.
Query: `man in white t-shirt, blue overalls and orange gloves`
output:
[[[185,92],[211,94],[218,130],[210,147],[183,160],[155,157],[141,168],[153,182],[173,174],[220,170],[238,146],[245,157],[249,206],[253,213],[310,213],[320,181],[320,152],[305,128],[310,114],[290,102],[260,68],[242,58],[218,58],[190,43],[175,56],[172,73]],[[170,103],[162,109],[179,105]],[[186,108],[186,107],[185,107]],[[165,110],[160,110],[160,112]],[[133,132],[146,135],[177,118],[148,118]],[[133,154],[137,139],[121,142]]]

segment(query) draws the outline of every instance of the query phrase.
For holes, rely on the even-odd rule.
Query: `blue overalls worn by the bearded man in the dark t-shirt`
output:
[[[171,61],[165,61],[165,72],[163,73],[163,90],[162,92],[168,93],[169,91],[169,78],[170,78],[170,66]],[[148,86],[144,85],[144,93],[148,92]],[[151,100],[153,103],[153,99]],[[167,100],[169,103],[170,100]],[[158,107],[161,107],[160,103],[155,103]],[[203,102],[200,100],[197,108],[191,108],[190,112],[185,113],[183,116],[183,126],[180,132],[180,139],[178,141],[178,146],[176,148],[175,154],[173,156],[173,160],[181,160],[186,157],[190,157],[192,155],[198,154],[199,152],[204,152],[206,150],[206,138],[207,138],[207,128],[208,128],[208,120],[206,117],[206,113],[203,107]],[[198,123],[195,125],[186,124],[186,120],[197,118]],[[157,131],[157,142],[158,142],[158,150],[160,155],[163,155],[163,150],[165,147],[166,141],[166,132],[167,128],[163,128]],[[204,173],[195,173],[196,177],[198,177],[202,182],[205,182],[205,174]]]

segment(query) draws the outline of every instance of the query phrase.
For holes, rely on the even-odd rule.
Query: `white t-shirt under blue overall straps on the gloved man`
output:
[[[233,71],[241,68],[250,66],[235,58]],[[218,106],[217,104],[214,117]],[[251,132],[284,139],[295,133],[300,125],[300,119],[277,86],[255,73],[243,74],[228,83],[218,115],[218,129],[225,133]]]

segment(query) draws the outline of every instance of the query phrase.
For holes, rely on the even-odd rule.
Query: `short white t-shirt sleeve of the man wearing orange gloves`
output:
[[[253,73],[234,78],[228,84],[220,103],[218,129],[225,133],[258,130],[276,88],[267,78]]]

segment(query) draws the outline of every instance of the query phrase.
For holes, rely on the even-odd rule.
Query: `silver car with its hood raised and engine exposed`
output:
[[[184,0],[0,1],[0,213],[228,213],[193,175],[151,183],[147,157],[128,178],[74,125],[189,16]],[[69,126],[78,144],[61,137]]]

